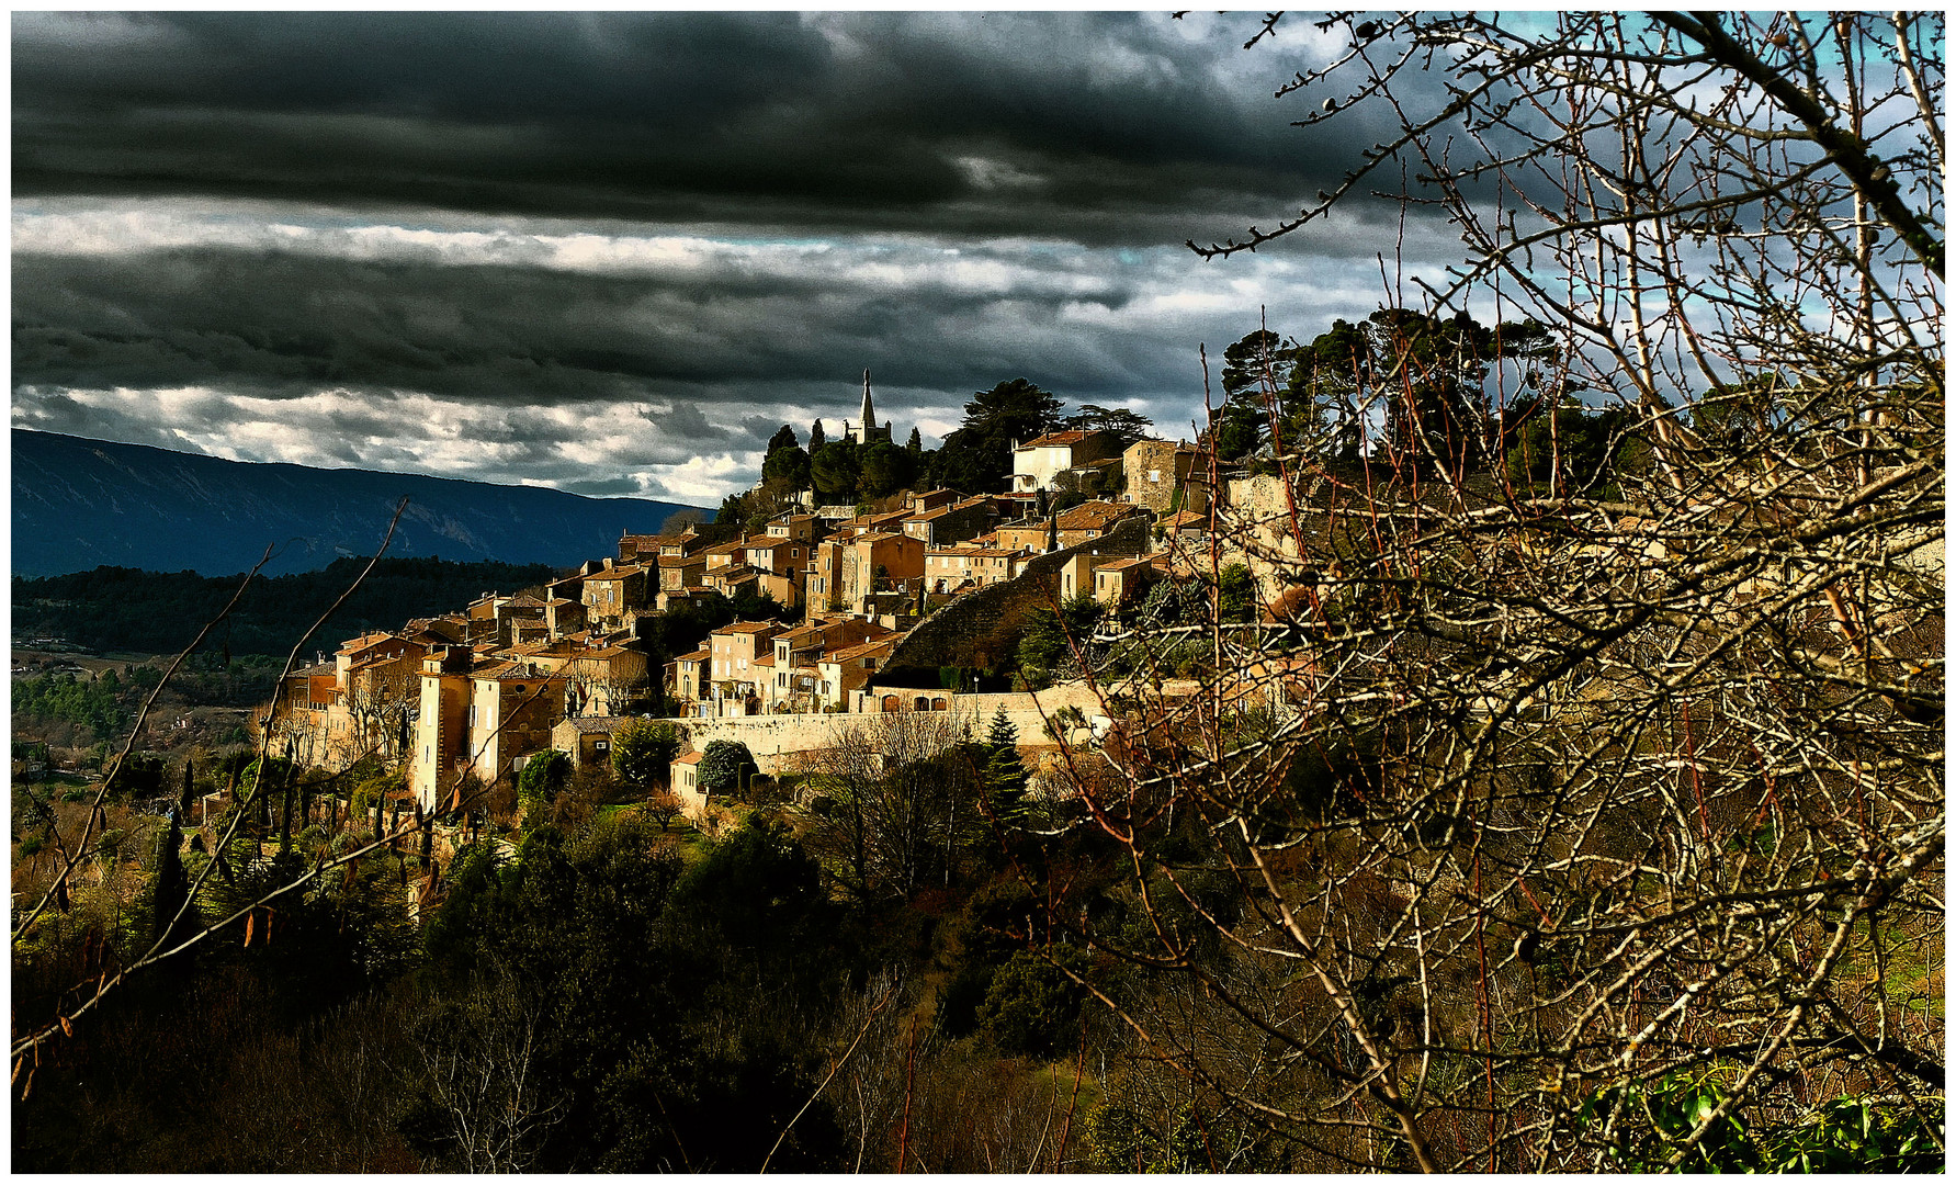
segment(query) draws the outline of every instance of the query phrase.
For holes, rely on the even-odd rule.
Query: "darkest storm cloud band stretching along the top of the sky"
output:
[[[1179,242],[1293,209],[1232,29],[1133,14],[16,14],[16,194]],[[1287,35],[1307,39],[1305,25]],[[1326,139],[1338,137],[1338,139]]]

